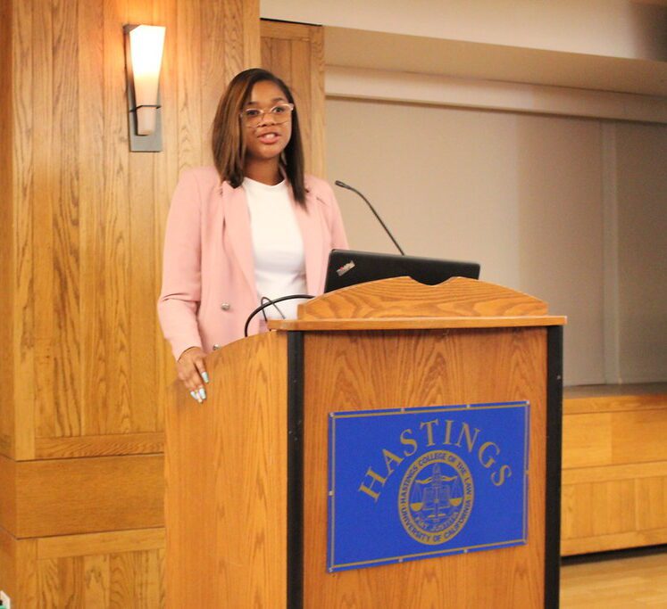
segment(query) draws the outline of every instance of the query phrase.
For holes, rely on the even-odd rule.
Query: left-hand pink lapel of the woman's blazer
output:
[[[250,231],[250,214],[243,187],[232,188],[227,182],[222,185],[226,231],[238,266],[251,292],[256,294],[254,283],[253,236]]]

